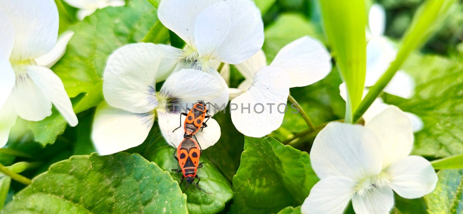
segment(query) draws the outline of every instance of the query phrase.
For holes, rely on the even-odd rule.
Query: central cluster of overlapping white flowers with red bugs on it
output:
[[[286,103],[289,88],[317,82],[331,70],[328,51],[308,37],[282,48],[267,66],[260,50],[264,41],[261,14],[249,0],[163,0],[158,17],[187,45],[177,49],[129,44],[109,57],[103,82],[107,104],[97,109],[92,132],[102,155],[143,143],[156,115],[164,138],[178,145],[184,132],[175,130],[182,124],[181,108],[175,106],[186,108],[204,101],[220,109],[229,96],[238,106]],[[238,88],[228,88],[217,71],[220,63],[236,65],[245,81]],[[156,92],[156,82],[161,81],[165,81],[163,87]],[[284,113],[275,108],[262,113],[232,111],[233,124],[244,135],[263,137],[282,124]],[[207,125],[195,135],[202,149],[220,138],[217,121],[210,119]]]

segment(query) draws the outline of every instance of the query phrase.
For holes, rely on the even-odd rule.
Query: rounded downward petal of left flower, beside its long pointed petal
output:
[[[16,84],[13,88],[13,102],[19,117],[40,121],[51,115],[51,100],[27,74],[25,67],[16,68]]]

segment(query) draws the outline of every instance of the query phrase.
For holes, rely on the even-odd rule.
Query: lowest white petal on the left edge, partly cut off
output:
[[[13,100],[8,99],[3,107],[0,108],[0,148],[8,142],[8,135],[11,127],[16,123],[18,114],[14,109]]]

